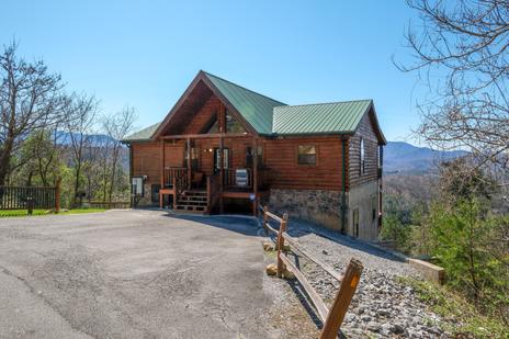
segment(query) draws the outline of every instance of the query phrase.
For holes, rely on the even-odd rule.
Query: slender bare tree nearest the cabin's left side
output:
[[[109,182],[109,201],[112,201],[113,192],[115,190],[115,181],[118,171],[118,155],[123,147],[122,139],[124,139],[125,136],[133,131],[136,118],[136,111],[128,106],[124,108],[121,112],[104,118],[103,128],[111,142],[110,174],[105,181]],[[104,193],[106,193],[106,188],[104,188]],[[106,199],[106,194],[104,194],[104,199]]]

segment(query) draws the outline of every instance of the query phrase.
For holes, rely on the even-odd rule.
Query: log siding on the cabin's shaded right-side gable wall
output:
[[[365,171],[361,168],[361,137],[364,140]],[[378,171],[378,139],[374,132],[373,122],[369,114],[362,118],[357,133],[348,140],[348,183],[350,187],[360,185],[377,179]]]

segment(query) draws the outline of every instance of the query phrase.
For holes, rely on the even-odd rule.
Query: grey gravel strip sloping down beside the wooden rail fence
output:
[[[441,329],[445,320],[430,312],[412,287],[399,281],[398,278],[421,279],[401,257],[303,221],[292,219],[287,233],[338,272],[346,269],[351,258],[363,263],[361,281],[341,326],[348,338],[450,337]],[[329,304],[336,297],[339,283],[298,252],[294,258]]]

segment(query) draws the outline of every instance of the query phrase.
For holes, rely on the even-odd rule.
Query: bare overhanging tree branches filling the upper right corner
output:
[[[509,150],[509,1],[407,0],[419,13],[406,42],[418,71],[433,89],[419,103],[417,133],[439,148],[468,148],[477,163],[501,162]]]

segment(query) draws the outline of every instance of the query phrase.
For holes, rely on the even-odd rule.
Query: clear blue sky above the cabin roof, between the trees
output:
[[[200,69],[289,104],[371,98],[389,140],[409,140],[422,93],[404,30],[404,1],[5,1],[0,44],[14,37],[68,90],[103,113],[163,118]]]

